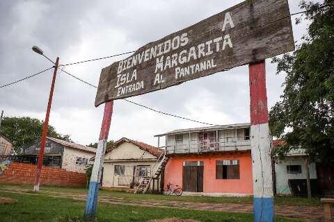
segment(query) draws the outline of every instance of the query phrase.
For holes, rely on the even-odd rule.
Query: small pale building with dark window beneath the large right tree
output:
[[[276,148],[278,144],[282,144],[280,139],[273,141],[273,146]],[[303,148],[294,149],[289,151],[284,160],[275,160],[275,189],[276,194],[292,194],[291,189],[299,186],[299,192],[301,189],[305,192],[305,182],[307,178],[305,168],[305,157],[307,154]],[[308,164],[310,169],[310,180],[312,182],[317,179],[317,167],[315,162]],[[317,191],[317,181],[311,183],[312,189]],[[317,194],[318,191],[317,191]]]

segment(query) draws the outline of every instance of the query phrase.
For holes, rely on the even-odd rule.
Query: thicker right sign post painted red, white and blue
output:
[[[250,63],[249,88],[254,221],[271,222],[273,221],[273,178],[268,125],[266,63],[264,60]]]

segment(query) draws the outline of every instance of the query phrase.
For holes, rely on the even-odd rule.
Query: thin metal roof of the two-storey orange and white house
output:
[[[168,133],[162,133],[159,135],[154,135],[154,137],[161,137],[164,135],[173,135],[179,133],[194,133],[194,132],[202,132],[202,131],[209,131],[209,130],[223,130],[223,129],[234,129],[234,128],[245,128],[249,127],[250,123],[236,123],[236,124],[229,124],[223,126],[207,126],[207,127],[198,127],[198,128],[187,128],[187,129],[180,129],[180,130],[173,130]]]

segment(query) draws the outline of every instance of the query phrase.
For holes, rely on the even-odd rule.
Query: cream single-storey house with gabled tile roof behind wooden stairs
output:
[[[155,146],[125,137],[119,139],[104,155],[102,186],[133,188],[141,177],[151,176],[161,153]],[[151,182],[152,188],[159,186],[159,180],[155,181]]]

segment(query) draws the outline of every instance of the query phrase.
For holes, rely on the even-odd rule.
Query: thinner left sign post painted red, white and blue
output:
[[[100,131],[100,139],[97,144],[97,151],[93,166],[92,175],[90,176],[89,190],[86,203],[85,216],[88,218],[95,217],[97,208],[97,196],[99,194],[101,172],[103,167],[104,153],[106,152],[106,143],[109,135],[111,116],[113,115],[113,101],[104,105],[104,114]]]

